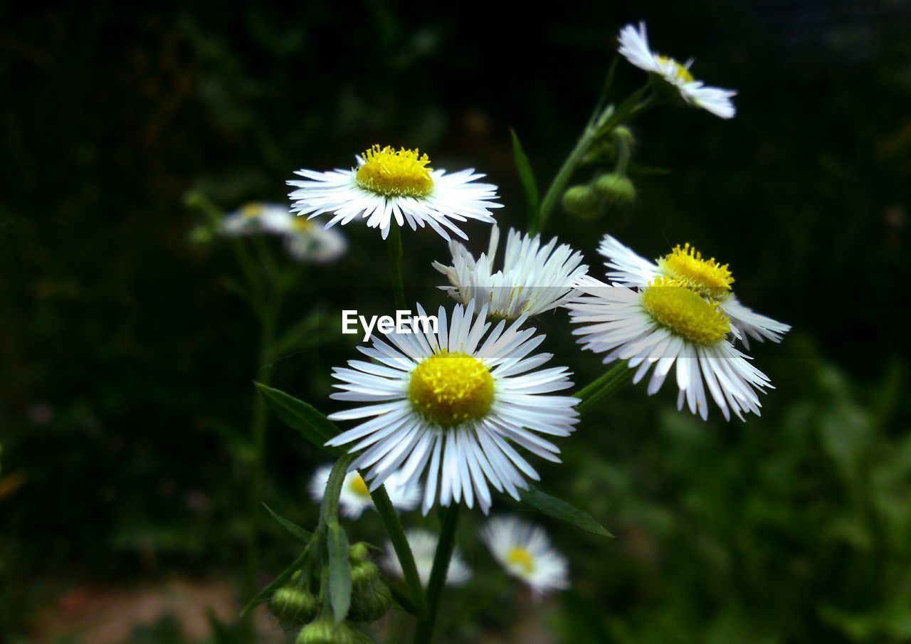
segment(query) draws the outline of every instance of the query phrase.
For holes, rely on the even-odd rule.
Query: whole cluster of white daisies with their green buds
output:
[[[561,170],[558,179],[562,179],[555,179],[540,208],[532,208],[530,225],[535,231],[561,195],[570,214],[589,213],[598,205],[589,203],[592,199],[601,205],[629,206],[636,196],[626,176],[634,140],[624,118],[631,118],[656,97],[668,97],[669,89],[673,102],[681,99],[721,118],[734,116],[735,93],[696,80],[691,61],[681,64],[652,52],[644,24],[639,30],[633,26],[621,30],[619,53],[650,72],[649,83],[621,104],[628,111],[596,110],[586,130],[590,140],[583,137],[579,145],[585,149],[570,157],[596,163],[603,161],[601,155],[613,154],[616,167],[607,174],[596,173],[590,190],[586,186],[567,189],[575,167]],[[433,506],[457,505],[477,506],[487,515],[496,502],[495,492],[515,501],[539,497],[541,493],[529,483],[540,478],[536,459],[559,463],[562,439],[574,433],[588,407],[588,400],[579,404],[593,390],[585,387],[569,394],[575,386],[570,379],[573,374],[565,366],[548,365],[554,355],[540,351],[545,336],[532,325],[535,316],[566,309],[574,325],[572,333],[583,349],[603,355],[604,363],[624,361],[634,383],[648,376],[648,394],[657,394],[672,374],[678,408],[685,405],[703,419],[709,416],[710,400],[728,420],[732,415],[744,419],[745,414],[759,414],[759,394],[773,388],[769,377],[744,352],[750,350],[751,339],[781,342],[790,327],[742,304],[732,290],[729,265],[703,256],[689,243],[650,261],[606,234],[598,248],[607,268],[602,281],[589,275],[583,254],[567,243],[509,230],[502,262],[497,263],[500,230],[492,211],[502,204],[497,201],[496,186],[478,182],[484,175],[474,169],[448,173],[432,168],[430,158],[417,148],[374,145],[356,156],[351,169],[302,169],[296,174],[303,180],[288,184],[294,188],[290,198],[292,212],[298,216],[281,208],[248,207],[224,220],[224,232],[306,235],[310,243],[323,244],[322,255],[315,250],[308,255],[311,261],[319,261],[318,257],[343,249],[341,238],[332,237],[337,235],[330,230],[335,224],[361,220],[368,228],[378,228],[383,239],[394,230],[390,258],[400,304],[404,304],[404,287],[400,265],[396,268],[401,263],[396,260],[402,248],[399,229],[426,226],[449,242],[450,261],[435,261],[432,268],[445,277],[439,288],[455,303],[439,306],[435,316],[427,316],[421,302],[415,305],[422,319],[435,317],[435,327],[386,330],[380,326],[372,340],[369,333],[365,336],[369,343],[357,347],[361,357],[333,369],[331,398],[344,406],[328,419],[343,426],[336,435],[320,435],[321,440],[332,435],[325,446],[348,454],[334,475],[331,466],[319,468],[310,486],[317,501],[323,501],[328,488],[333,489],[331,504],[323,506],[324,515],[338,514],[333,505],[337,496],[339,513],[351,519],[374,508],[374,493],[384,486],[389,499],[378,497],[375,507],[384,521],[393,517],[397,533],[393,529],[390,535],[397,538],[387,545],[383,564],[406,581],[410,578],[411,586],[419,580],[438,590],[444,571],[445,582],[451,585],[465,583],[472,573],[466,557],[453,547],[455,519],[446,524],[449,538],[445,541],[423,529],[403,533],[390,502],[402,512],[420,506],[424,516]],[[534,201],[537,192],[529,198]],[[327,219],[324,229],[313,222],[322,215]],[[493,224],[486,251],[477,257],[458,225],[468,220]],[[345,543],[337,535],[334,538],[333,547]],[[445,544],[440,551],[444,556],[437,552],[438,541]],[[514,516],[496,516],[480,530],[480,541],[536,598],[568,587],[568,561],[551,545],[543,528]],[[414,566],[407,557],[407,566],[400,559],[409,548]],[[380,607],[389,601],[382,584],[375,581],[374,565],[361,554],[350,559],[360,571],[351,573],[353,588],[361,593],[357,597],[363,595],[367,607],[356,614],[380,614],[370,602]],[[430,583],[432,578],[436,585]],[[306,588],[315,584],[308,583]],[[421,595],[420,588],[416,594]],[[309,599],[304,610],[295,608],[290,590],[284,595],[288,597],[283,611],[316,615]],[[318,619],[308,628],[329,627]]]

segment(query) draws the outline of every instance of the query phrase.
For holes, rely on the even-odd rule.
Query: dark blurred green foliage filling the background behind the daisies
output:
[[[24,637],[34,610],[81,579],[236,571],[248,472],[243,442],[226,437],[246,432],[251,380],[271,369],[275,386],[333,407],[329,369],[351,343],[327,332],[257,364],[255,321],[226,288],[230,254],[188,241],[189,190],[225,209],[281,200],[293,169],[343,167],[389,142],[485,171],[500,219],[523,226],[508,128],[538,180],[552,176],[619,26],[640,18],[656,46],[736,87],[738,116],[637,121],[634,161],[672,172],[638,177],[633,207],[600,220],[558,211],[545,234],[593,271],[606,231],[652,256],[689,240],[796,331],[757,348],[777,387],[762,419],[703,424],[671,411],[670,393],[630,387],[566,442],[548,491],[618,538],[548,524],[574,588],[538,612],[579,643],[911,639],[907,5],[657,2],[630,15],[563,3],[522,28],[450,8],[4,10],[0,640]],[[619,90],[640,79],[619,66]],[[485,227],[467,230],[486,247]],[[388,305],[378,236],[345,232],[353,251],[312,270],[286,324]],[[405,275],[409,297],[433,306],[429,262],[446,250],[424,232],[404,235]],[[564,321],[542,319],[548,348],[585,382],[599,363]],[[308,525],[305,481],[321,462],[273,423],[264,500]],[[281,569],[294,545],[269,529],[265,567]],[[482,557],[470,522],[463,532]],[[478,575],[496,610],[452,592],[442,627],[466,641],[515,633],[527,605],[496,571]],[[162,622],[136,637],[177,632]]]

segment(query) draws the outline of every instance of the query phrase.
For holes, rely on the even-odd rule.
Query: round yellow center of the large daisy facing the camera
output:
[[[455,427],[487,414],[494,402],[494,378],[474,356],[435,353],[411,373],[408,398],[428,420]]]

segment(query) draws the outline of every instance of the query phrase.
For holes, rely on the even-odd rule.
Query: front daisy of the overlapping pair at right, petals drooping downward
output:
[[[717,302],[706,301],[681,281],[657,277],[649,286],[633,290],[611,286],[590,277],[579,282],[585,294],[567,304],[569,320],[583,324],[573,331],[579,342],[595,353],[608,353],[604,363],[628,360],[638,383],[654,367],[649,394],[655,394],[676,365],[677,408],[686,401],[693,414],[709,415],[708,387],[724,417],[731,412],[759,415],[757,392],[773,389],[769,378],[750,363],[751,358],[727,340],[737,335]],[[703,385],[704,379],[704,385]]]

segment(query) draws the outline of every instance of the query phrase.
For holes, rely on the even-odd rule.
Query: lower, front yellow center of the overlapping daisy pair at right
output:
[[[655,322],[694,344],[721,342],[731,332],[731,320],[681,281],[655,278],[642,293],[642,306]]]

